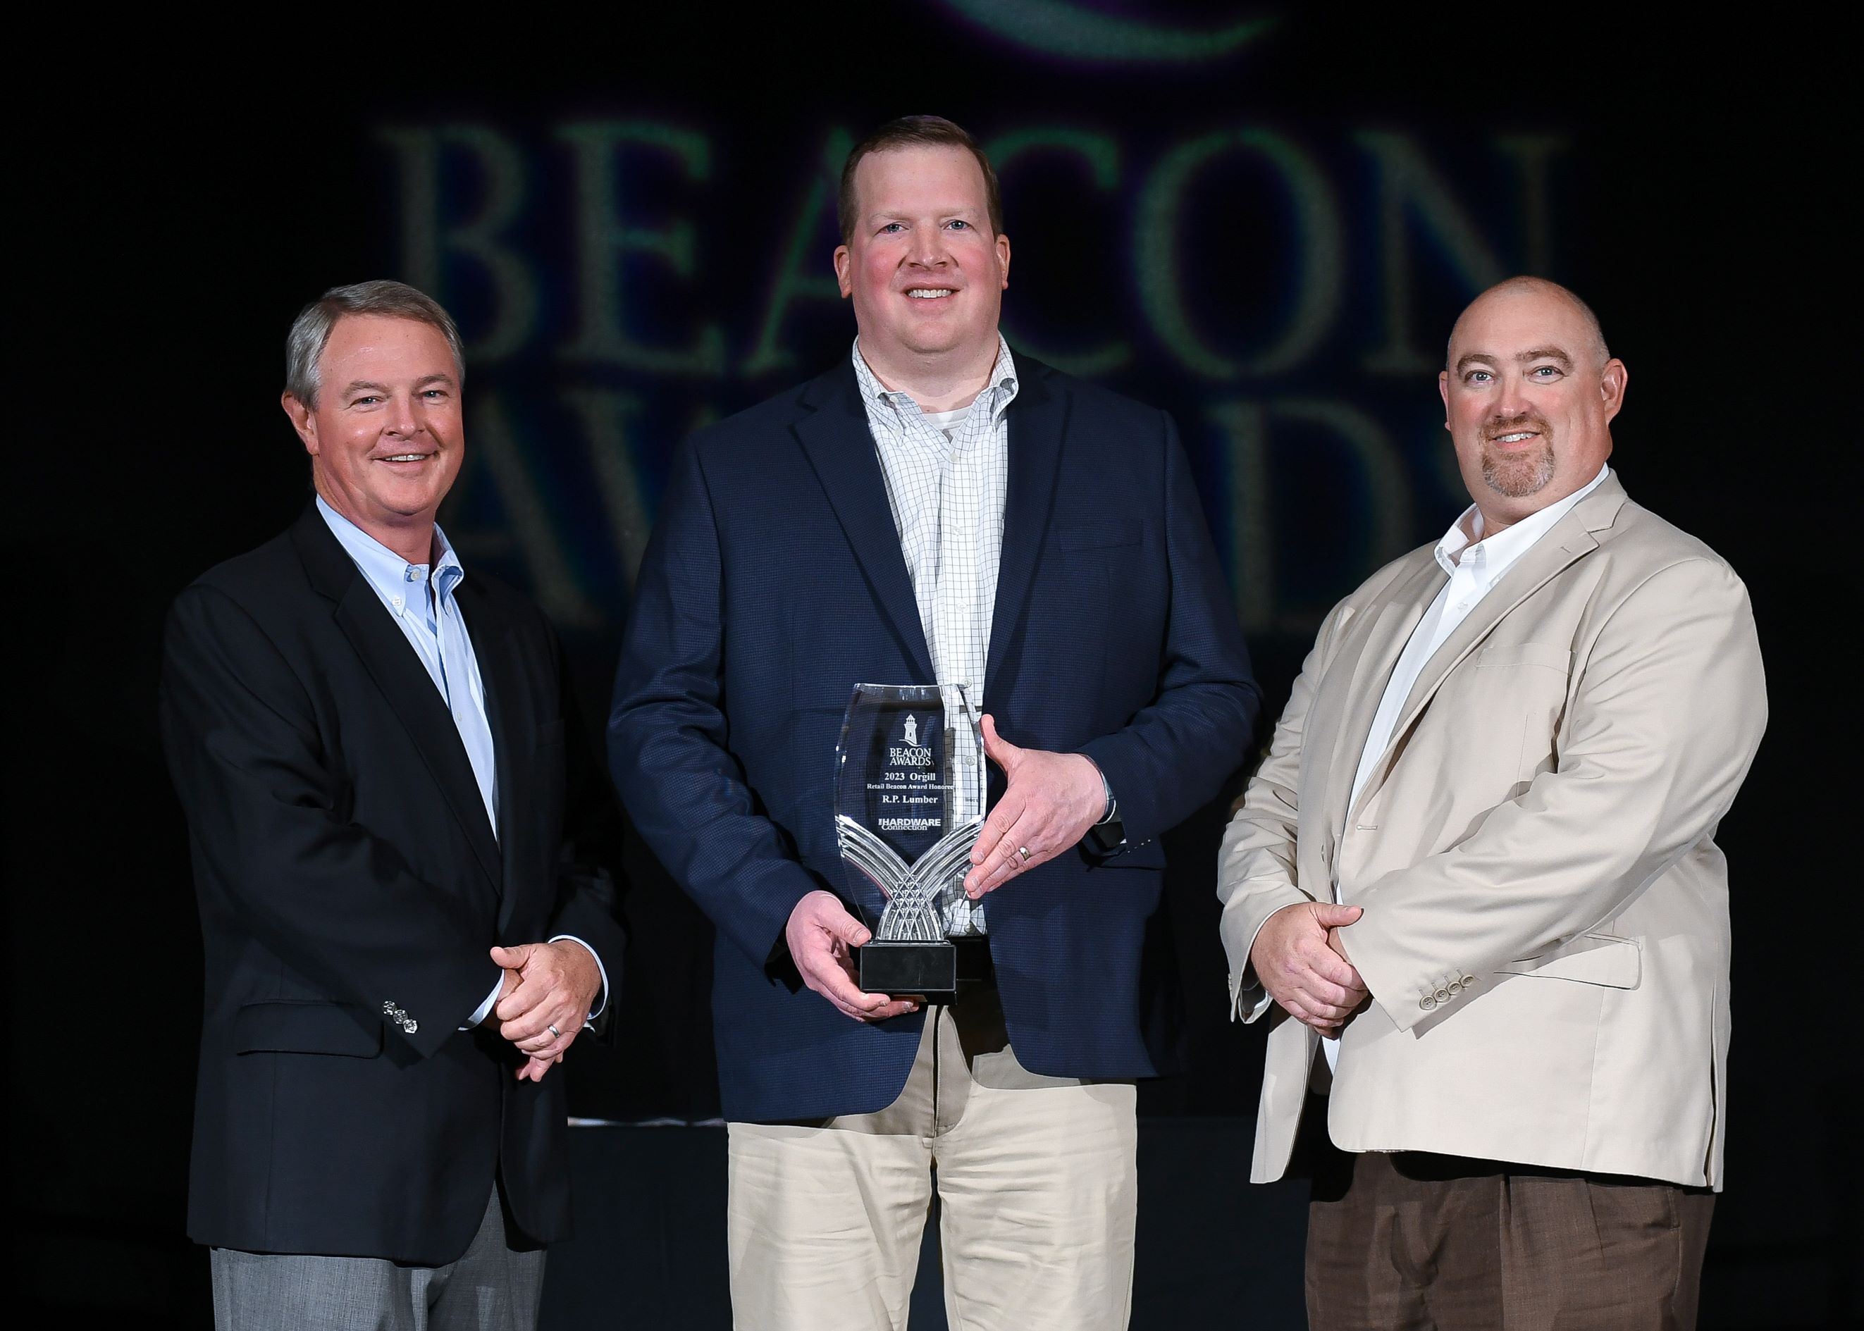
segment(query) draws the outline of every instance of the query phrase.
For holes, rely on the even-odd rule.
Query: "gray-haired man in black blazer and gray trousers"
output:
[[[315,500],[168,617],[222,1331],[531,1327],[569,1227],[546,1074],[621,975],[617,820],[550,624],[434,522],[462,380],[412,287],[308,306],[283,406]]]

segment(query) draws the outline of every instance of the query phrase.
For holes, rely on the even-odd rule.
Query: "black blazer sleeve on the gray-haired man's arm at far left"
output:
[[[170,610],[160,716],[203,910],[231,912],[337,1001],[403,1009],[416,1022],[403,1038],[434,1053],[498,982],[488,943],[447,891],[343,818],[309,695],[214,587]]]

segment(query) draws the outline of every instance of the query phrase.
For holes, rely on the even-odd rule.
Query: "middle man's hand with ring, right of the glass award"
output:
[[[997,734],[988,714],[984,753],[1010,783],[971,846],[971,872],[964,876],[971,900],[1072,850],[1107,811],[1107,783],[1081,753],[1020,749]]]

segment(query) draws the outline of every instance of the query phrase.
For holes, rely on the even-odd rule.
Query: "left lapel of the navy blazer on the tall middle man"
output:
[[[887,483],[880,473],[880,455],[867,429],[867,408],[854,380],[854,365],[844,364],[815,380],[803,395],[815,412],[796,421],[816,479],[828,492],[854,557],[867,576],[895,639],[919,669],[923,684],[934,684],[932,652],[926,651],[919,602],[900,552],[900,533],[893,526]]]

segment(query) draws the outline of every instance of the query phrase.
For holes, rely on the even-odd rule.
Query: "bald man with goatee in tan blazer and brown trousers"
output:
[[[1223,844],[1251,1178],[1303,1126],[1320,1329],[1694,1325],[1754,617],[1607,466],[1569,291],[1478,296],[1439,386],[1474,503],[1327,615]]]

